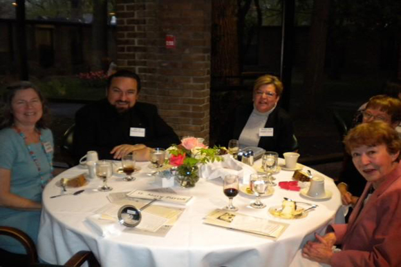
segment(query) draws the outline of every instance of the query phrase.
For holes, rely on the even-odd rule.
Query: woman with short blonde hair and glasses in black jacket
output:
[[[259,77],[254,84],[253,103],[237,108],[221,145],[227,146],[228,139],[239,139],[240,148],[258,146],[280,155],[294,150],[292,120],[277,106],[282,93],[283,83],[277,77]]]

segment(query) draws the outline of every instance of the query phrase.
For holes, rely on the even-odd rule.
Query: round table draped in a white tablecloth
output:
[[[283,164],[283,159],[279,159]],[[260,160],[254,168],[260,168]],[[125,192],[136,189],[160,187],[158,180],[149,175],[149,162],[137,163],[141,168],[135,172],[136,181],[123,181],[120,175],[109,179],[113,187],[110,192]],[[106,198],[109,192],[98,192],[102,184],[100,179],[90,179],[80,195],[68,195],[50,199],[58,195],[62,189],[59,180],[74,177],[87,172],[82,166],[75,166],[50,181],[43,192],[43,210],[39,229],[39,257],[50,264],[64,264],[73,254],[80,250],[91,250],[102,266],[288,266],[297,250],[313,233],[323,234],[326,226],[344,219],[339,191],[333,179],[322,175],[307,166],[313,175],[325,178],[326,190],[333,192],[330,199],[314,201],[306,199],[300,192],[284,190],[274,186],[274,193],[263,197],[266,208],[255,209],[249,206],[254,197],[240,192],[234,197],[234,206],[238,212],[254,217],[271,219],[289,224],[288,228],[277,239],[272,240],[258,235],[230,230],[218,226],[203,224],[203,217],[227,205],[228,199],[223,194],[222,179],[200,179],[194,188],[173,190],[179,195],[193,196],[183,214],[165,237],[141,235],[136,233],[120,233],[102,237],[86,224],[86,217],[93,215],[94,210],[109,203]],[[279,181],[290,181],[293,171],[281,170],[275,174]],[[68,189],[75,192],[81,188]],[[270,206],[281,205],[283,197],[298,201],[318,204],[316,210],[301,219],[281,219],[268,213]],[[163,205],[157,201],[154,205]]]

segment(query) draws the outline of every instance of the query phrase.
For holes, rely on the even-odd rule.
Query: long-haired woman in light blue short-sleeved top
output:
[[[53,171],[53,135],[46,128],[46,114],[44,98],[32,83],[7,88],[0,126],[0,226],[19,228],[35,243],[41,192]],[[0,250],[25,253],[9,237],[0,237]]]

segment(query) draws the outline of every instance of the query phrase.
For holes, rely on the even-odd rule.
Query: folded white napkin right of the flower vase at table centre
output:
[[[249,183],[252,173],[257,173],[252,166],[237,161],[232,155],[223,155],[223,161],[203,164],[199,167],[199,177],[210,180],[218,177],[224,178],[225,175],[238,175],[243,178],[243,184]]]

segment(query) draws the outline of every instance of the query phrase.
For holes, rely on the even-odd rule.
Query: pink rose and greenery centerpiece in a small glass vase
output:
[[[187,137],[181,144],[167,149],[171,155],[169,164],[177,167],[177,180],[181,187],[194,187],[199,180],[198,164],[222,161],[221,148],[208,148],[196,137]]]

